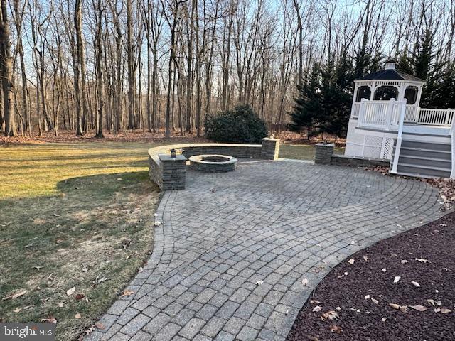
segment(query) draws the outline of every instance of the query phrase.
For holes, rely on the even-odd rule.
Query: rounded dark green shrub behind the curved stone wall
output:
[[[217,116],[208,114],[205,136],[215,142],[259,144],[267,136],[267,126],[250,105],[239,105]]]

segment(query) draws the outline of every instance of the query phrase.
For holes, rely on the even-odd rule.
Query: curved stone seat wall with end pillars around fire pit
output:
[[[171,157],[171,150],[180,152]],[[186,160],[201,154],[229,155],[234,158],[276,160],[279,139],[264,138],[262,144],[174,144],[149,149],[149,177],[161,190],[183,190]]]

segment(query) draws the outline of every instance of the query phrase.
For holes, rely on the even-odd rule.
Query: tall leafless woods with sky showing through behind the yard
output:
[[[453,1],[0,1],[6,136],[199,136],[205,114],[239,103],[279,131],[314,65],[350,94],[343,72],[358,77],[389,56],[454,85]]]

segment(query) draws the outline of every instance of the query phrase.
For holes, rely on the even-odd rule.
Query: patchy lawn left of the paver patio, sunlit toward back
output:
[[[57,340],[72,340],[107,310],[151,250],[150,147],[1,147],[0,300],[26,293],[0,301],[0,320],[53,317]]]

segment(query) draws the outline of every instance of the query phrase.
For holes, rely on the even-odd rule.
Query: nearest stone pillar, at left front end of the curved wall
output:
[[[161,190],[184,190],[186,180],[186,157],[178,154],[175,158],[159,154],[161,161]]]

